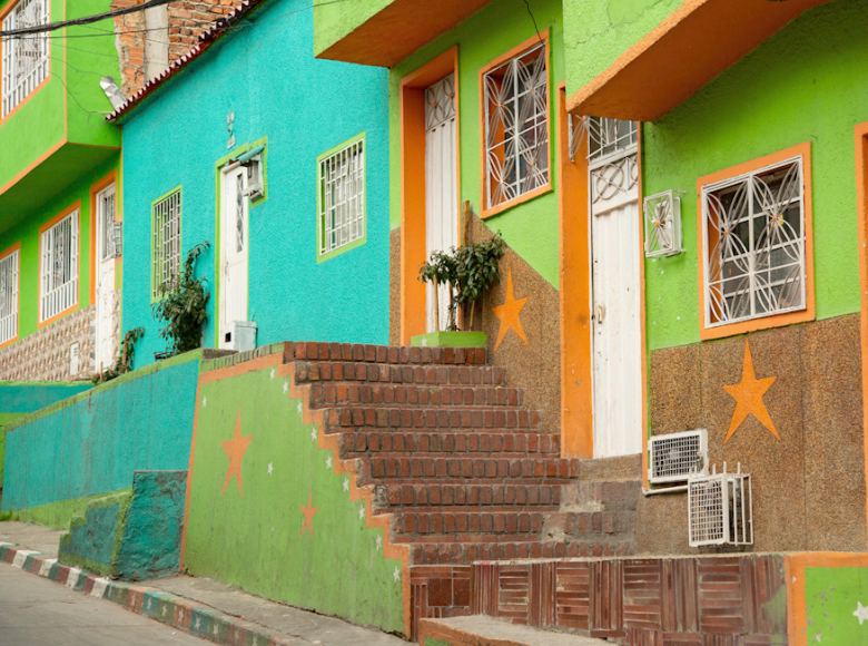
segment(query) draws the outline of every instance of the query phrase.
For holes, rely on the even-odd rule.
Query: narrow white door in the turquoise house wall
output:
[[[219,346],[235,349],[235,322],[247,321],[247,249],[249,204],[244,195],[247,169],[224,169],[220,180]]]

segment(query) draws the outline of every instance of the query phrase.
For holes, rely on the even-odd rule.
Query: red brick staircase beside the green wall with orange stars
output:
[[[579,484],[485,350],[293,343],[285,362],[410,547],[413,635],[470,614],[474,561],[632,554],[635,487]]]

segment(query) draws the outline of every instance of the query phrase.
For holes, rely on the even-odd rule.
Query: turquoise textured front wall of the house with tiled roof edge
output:
[[[146,330],[137,365],[165,349],[151,314],[151,203],[180,186],[183,253],[211,244],[197,272],[211,294],[205,344],[214,346],[217,165],[262,143],[267,195],[249,209],[257,344],[388,340],[386,71],[315,60],[312,13],[300,0],[272,0],[124,117],[124,323]],[[363,133],[367,239],[317,263],[317,156]]]

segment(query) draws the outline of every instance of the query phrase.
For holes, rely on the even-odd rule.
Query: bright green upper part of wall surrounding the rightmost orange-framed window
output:
[[[645,261],[648,348],[699,341],[697,179],[811,143],[817,319],[859,311],[854,127],[868,121],[868,0],[803,13],[653,124],[643,193],[682,197],[685,253]]]

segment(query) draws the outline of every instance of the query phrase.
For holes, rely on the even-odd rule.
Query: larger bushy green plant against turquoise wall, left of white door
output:
[[[181,272],[160,286],[161,297],[154,304],[154,316],[166,322],[160,336],[169,344],[169,356],[201,346],[210,294],[205,290],[205,276],[194,278],[194,267],[196,260],[209,246],[209,243],[203,242],[187,252]]]

